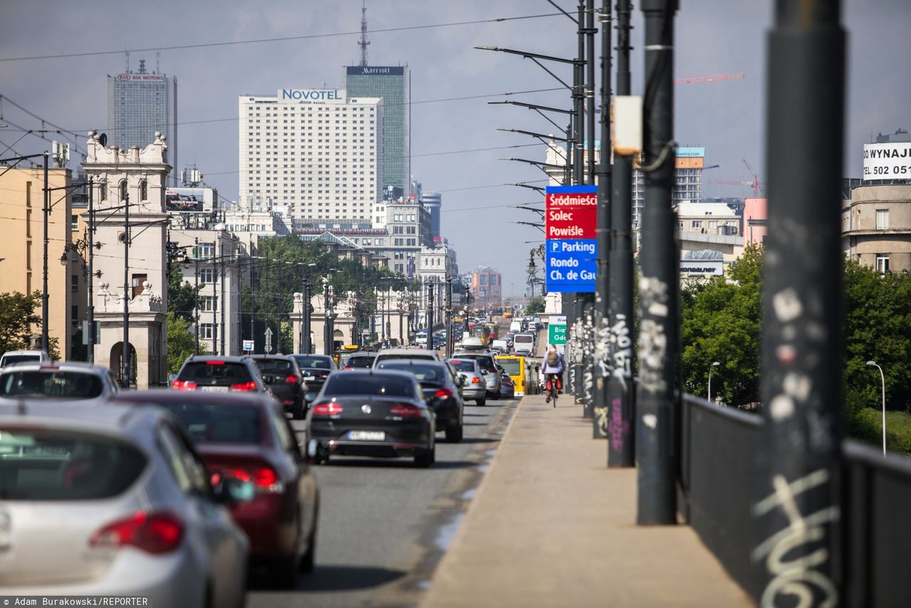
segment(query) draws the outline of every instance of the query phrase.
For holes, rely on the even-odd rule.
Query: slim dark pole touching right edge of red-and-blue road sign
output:
[[[592,11],[594,0],[591,0]],[[592,18],[594,13],[591,13]],[[592,438],[608,436],[607,381],[610,375],[608,325],[609,302],[609,248],[610,248],[610,0],[601,0],[601,158],[598,163],[598,276],[595,280],[594,307],[594,352],[592,353],[591,374],[594,378],[592,401]],[[594,65],[591,66],[594,68]],[[594,80],[592,80],[594,82]],[[594,100],[592,100],[592,105]],[[595,122],[591,121],[591,130]]]

